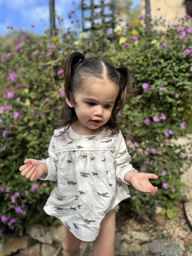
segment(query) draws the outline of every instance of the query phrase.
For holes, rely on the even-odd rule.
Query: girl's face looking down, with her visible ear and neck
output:
[[[119,88],[108,80],[87,78],[82,90],[74,94],[76,104],[66,98],[67,105],[75,108],[78,120],[73,129],[81,135],[94,135],[102,131],[113,110]]]

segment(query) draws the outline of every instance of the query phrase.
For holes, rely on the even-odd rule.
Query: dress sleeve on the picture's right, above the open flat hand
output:
[[[131,156],[128,153],[125,139],[122,136],[122,132],[119,131],[119,134],[116,139],[116,179],[128,185],[130,185],[130,183],[127,183],[125,181],[125,174],[129,171],[137,172],[137,170],[134,169],[130,162]]]

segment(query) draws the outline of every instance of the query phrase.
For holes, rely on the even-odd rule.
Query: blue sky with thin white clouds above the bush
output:
[[[98,1],[94,0],[95,3]],[[55,12],[64,19],[61,28],[73,28],[71,20],[75,19],[81,24],[80,3],[81,0],[55,0]],[[132,3],[132,7],[138,6],[140,0],[132,0]],[[68,14],[73,10],[75,13],[69,19]],[[58,19],[55,20],[58,26]],[[45,29],[49,28],[49,0],[0,0],[0,35],[5,36],[10,32],[7,29],[10,26],[14,30],[22,29],[43,35]]]

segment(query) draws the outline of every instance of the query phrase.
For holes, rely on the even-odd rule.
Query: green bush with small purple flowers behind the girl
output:
[[[151,182],[159,191],[151,198],[130,186],[132,197],[126,204],[136,212],[142,206],[151,212],[158,205],[173,217],[183,186],[180,175],[190,166],[186,147],[173,142],[186,137],[192,123],[191,29],[186,21],[164,32],[157,32],[157,23],[147,33],[141,24],[124,31],[117,26],[111,41],[102,31],[77,38],[68,30],[51,38],[46,30],[40,43],[22,35],[2,54],[0,84],[8,89],[0,94],[0,233],[15,230],[21,235],[26,223],[58,221],[42,210],[54,184],[30,182],[19,166],[25,158],[48,156],[64,98],[64,59],[74,51],[129,68],[133,90],[118,113],[119,125],[129,140],[134,167],[157,174],[159,179]]]

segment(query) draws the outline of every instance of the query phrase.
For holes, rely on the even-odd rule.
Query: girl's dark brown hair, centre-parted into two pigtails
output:
[[[119,94],[116,98],[115,105],[110,119],[104,125],[106,129],[111,129],[111,135],[119,133],[119,127],[116,123],[116,114],[122,109],[126,93],[131,89],[131,77],[129,71],[124,66],[114,67],[105,59],[84,58],[80,52],[70,54],[64,66],[65,96],[74,105],[73,94],[81,90],[81,84],[84,84],[87,77],[95,77],[99,79],[108,79],[119,87]],[[70,125],[77,120],[74,108],[70,108],[66,102],[62,108],[61,119],[54,129],[65,127],[68,130]],[[65,132],[64,131],[64,132]]]

